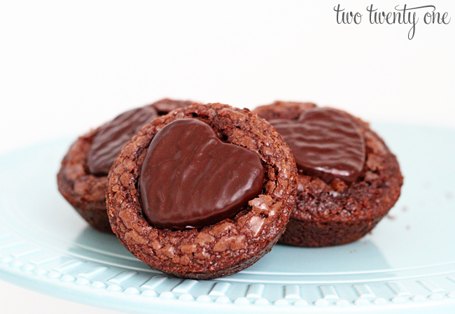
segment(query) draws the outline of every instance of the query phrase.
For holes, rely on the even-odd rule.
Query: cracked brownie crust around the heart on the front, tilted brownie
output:
[[[262,194],[246,210],[202,229],[172,231],[144,218],[137,182],[155,134],[174,120],[196,118],[225,143],[258,154],[265,168]],[[109,172],[109,220],[120,242],[154,269],[181,278],[211,279],[237,273],[258,261],[278,241],[295,204],[297,169],[288,145],[248,109],[193,104],[147,124],[125,145]]]

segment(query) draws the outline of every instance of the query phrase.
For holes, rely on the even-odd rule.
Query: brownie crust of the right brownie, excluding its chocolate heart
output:
[[[276,101],[253,112],[266,120],[297,119],[312,108],[316,105]],[[327,184],[299,171],[297,201],[279,243],[324,247],[356,241],[371,231],[400,197],[403,178],[395,155],[369,124],[349,117],[365,138],[366,159],[360,178],[351,185],[339,179]]]

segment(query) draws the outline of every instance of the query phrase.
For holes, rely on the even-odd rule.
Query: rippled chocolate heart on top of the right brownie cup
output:
[[[334,109],[316,108],[297,120],[269,121],[293,152],[297,168],[330,183],[353,183],[365,163],[365,140],[351,118]]]

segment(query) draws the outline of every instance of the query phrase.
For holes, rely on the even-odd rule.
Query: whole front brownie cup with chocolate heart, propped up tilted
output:
[[[120,242],[153,269],[204,280],[272,249],[295,204],[297,169],[283,138],[248,109],[193,104],[141,129],[108,180]]]

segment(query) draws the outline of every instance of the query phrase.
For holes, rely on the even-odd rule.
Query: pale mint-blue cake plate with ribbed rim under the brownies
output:
[[[57,191],[73,138],[0,157],[0,278],[131,313],[455,313],[455,129],[374,124],[405,176],[387,218],[356,243],[276,245],[227,278],[148,268]]]

